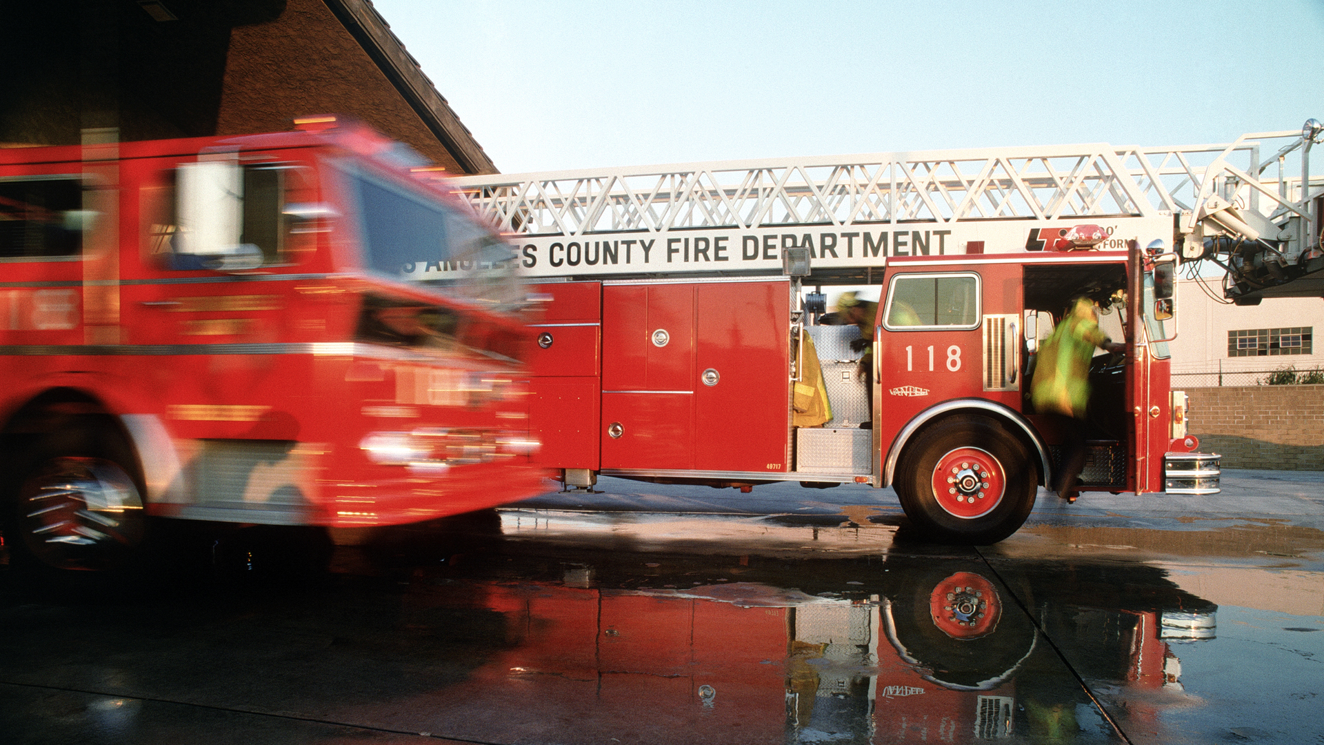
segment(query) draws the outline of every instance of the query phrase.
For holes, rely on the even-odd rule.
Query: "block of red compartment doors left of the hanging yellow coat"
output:
[[[602,468],[784,473],[789,304],[785,281],[604,286]]]

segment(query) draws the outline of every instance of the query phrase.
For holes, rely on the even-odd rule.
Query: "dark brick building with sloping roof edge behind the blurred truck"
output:
[[[343,114],[450,174],[496,171],[371,0],[0,0],[0,147]]]

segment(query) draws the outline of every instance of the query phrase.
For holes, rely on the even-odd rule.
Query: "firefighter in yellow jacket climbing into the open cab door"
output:
[[[1062,464],[1058,468],[1058,496],[1075,501],[1076,479],[1084,468],[1084,418],[1090,404],[1090,359],[1095,347],[1123,351],[1099,327],[1094,301],[1078,297],[1062,322],[1039,346],[1030,400],[1037,414],[1054,420],[1062,431]]]

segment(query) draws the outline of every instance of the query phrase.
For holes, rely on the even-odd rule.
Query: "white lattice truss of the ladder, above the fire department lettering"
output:
[[[1260,162],[1260,144],[1283,138],[1296,143]],[[493,174],[450,184],[502,232],[520,236],[1165,213],[1182,215],[1178,229],[1190,233],[1198,205],[1210,195],[1270,219],[1308,217],[1301,179],[1283,172],[1283,156],[1301,142],[1298,130],[1246,134],[1230,144],[1094,143],[726,160]],[[1275,160],[1276,179],[1262,180]]]

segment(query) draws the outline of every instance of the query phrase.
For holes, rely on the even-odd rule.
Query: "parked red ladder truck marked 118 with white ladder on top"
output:
[[[1030,379],[1076,296],[1127,350],[1094,361],[1082,489],[1218,490],[1169,390],[1177,219],[1132,171],[1095,144],[455,183],[539,282],[531,418],[567,488],[890,485],[925,533],[984,544],[1053,483]],[[859,330],[818,323],[833,285],[878,300],[861,375]]]

